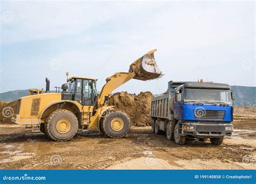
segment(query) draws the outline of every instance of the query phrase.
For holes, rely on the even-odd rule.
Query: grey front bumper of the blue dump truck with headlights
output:
[[[191,135],[196,138],[217,138],[223,136],[231,136],[233,133],[233,125],[216,124],[216,123],[190,123],[185,122],[181,124],[181,134]]]

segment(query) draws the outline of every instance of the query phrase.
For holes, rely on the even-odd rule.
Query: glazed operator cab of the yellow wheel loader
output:
[[[84,77],[70,77],[62,89],[63,100],[78,101],[81,105],[96,105],[96,79]]]

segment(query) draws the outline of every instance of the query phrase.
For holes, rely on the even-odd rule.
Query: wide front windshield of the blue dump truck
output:
[[[185,88],[184,101],[232,104],[230,90],[206,88]]]

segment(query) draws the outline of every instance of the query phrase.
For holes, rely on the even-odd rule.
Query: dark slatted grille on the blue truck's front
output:
[[[225,111],[210,111],[204,109],[194,110],[194,117],[196,119],[212,119],[212,120],[223,120]]]

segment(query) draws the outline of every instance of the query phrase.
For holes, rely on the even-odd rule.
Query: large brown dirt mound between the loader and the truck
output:
[[[150,109],[153,94],[149,91],[138,95],[117,92],[109,99],[109,105],[124,111],[131,120],[132,126],[151,126]]]

